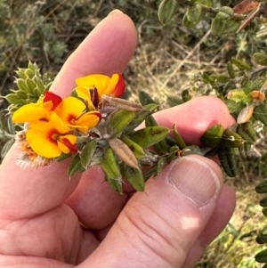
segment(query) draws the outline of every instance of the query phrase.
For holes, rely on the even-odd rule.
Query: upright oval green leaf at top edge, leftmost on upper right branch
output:
[[[163,0],[158,7],[158,20],[166,24],[173,17],[178,6],[177,0]]]

